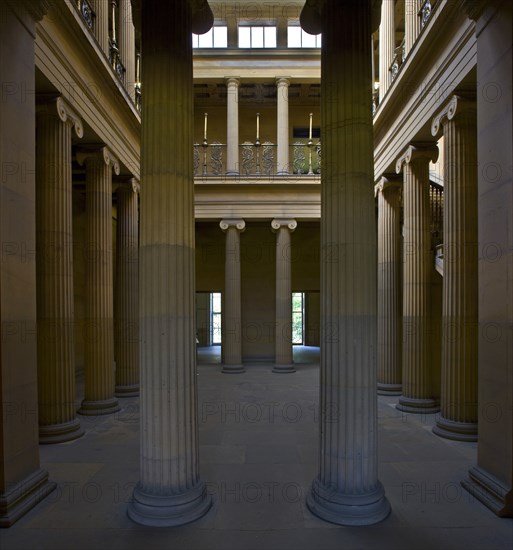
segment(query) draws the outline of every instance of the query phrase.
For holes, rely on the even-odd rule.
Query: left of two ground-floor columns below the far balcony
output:
[[[224,262],[224,304],[223,304],[223,372],[236,374],[245,372],[242,366],[242,320],[240,290],[240,233],[244,231],[244,220],[221,220],[219,224],[226,233]]]

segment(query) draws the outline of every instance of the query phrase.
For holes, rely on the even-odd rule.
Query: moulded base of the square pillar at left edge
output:
[[[55,487],[57,484],[54,481],[48,481],[48,472],[39,469],[7,493],[0,493],[0,527],[13,525]]]

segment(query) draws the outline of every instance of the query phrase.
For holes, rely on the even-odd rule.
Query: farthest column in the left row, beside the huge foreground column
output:
[[[139,184],[117,189],[114,355],[116,397],[139,395]]]

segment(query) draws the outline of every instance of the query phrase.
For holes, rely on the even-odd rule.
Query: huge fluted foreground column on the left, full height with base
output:
[[[190,6],[142,3],[141,466],[128,515],[153,526],[211,506],[198,460]]]

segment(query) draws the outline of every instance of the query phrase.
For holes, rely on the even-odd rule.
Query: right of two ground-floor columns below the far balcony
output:
[[[296,372],[292,357],[292,269],[291,233],[296,220],[275,219],[271,227],[276,233],[276,322],[273,372]]]

